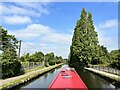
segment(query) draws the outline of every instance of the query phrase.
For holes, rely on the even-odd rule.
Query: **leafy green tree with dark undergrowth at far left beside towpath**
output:
[[[12,77],[24,72],[21,70],[21,64],[17,60],[17,39],[14,35],[9,35],[7,30],[0,27],[2,45],[2,78]]]

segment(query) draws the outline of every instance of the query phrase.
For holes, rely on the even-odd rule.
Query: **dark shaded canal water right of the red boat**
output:
[[[83,69],[76,69],[78,72],[79,76],[82,78],[86,86],[89,88],[89,90],[93,89],[99,89],[99,90],[106,90],[106,89],[118,89],[114,85],[112,85],[110,82],[107,80]]]

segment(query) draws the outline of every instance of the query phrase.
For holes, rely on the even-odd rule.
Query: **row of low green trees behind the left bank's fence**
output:
[[[26,53],[21,56],[20,61],[22,62],[44,62],[44,65],[47,67],[49,65],[59,64],[63,61],[61,56],[54,55],[53,52],[47,53],[44,55],[42,52],[35,52],[35,54]]]

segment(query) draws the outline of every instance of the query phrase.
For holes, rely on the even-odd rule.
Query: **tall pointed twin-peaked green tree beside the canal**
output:
[[[98,59],[98,38],[92,20],[92,14],[82,9],[80,19],[74,29],[70,47],[70,64],[82,63],[87,65]]]

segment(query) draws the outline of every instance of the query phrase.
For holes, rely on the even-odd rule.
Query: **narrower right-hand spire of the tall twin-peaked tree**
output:
[[[99,48],[98,48],[98,34],[95,31],[95,27],[92,20],[92,14],[88,12],[87,18],[87,34],[86,40],[88,41],[88,62],[92,63],[93,61],[97,62],[99,58]]]

